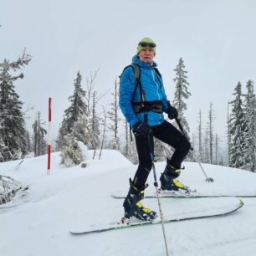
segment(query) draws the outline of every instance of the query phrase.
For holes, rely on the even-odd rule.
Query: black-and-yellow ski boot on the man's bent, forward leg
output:
[[[165,171],[161,174],[160,182],[161,182],[161,190],[172,191],[172,192],[182,192],[182,193],[189,193],[191,189],[182,182],[177,180],[181,174],[181,169],[174,168],[173,166],[168,163],[166,164]]]

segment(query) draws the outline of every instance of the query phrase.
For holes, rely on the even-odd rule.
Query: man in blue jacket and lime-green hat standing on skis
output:
[[[155,56],[155,42],[151,38],[141,39],[137,45],[137,54],[132,59],[132,64],[140,68],[140,79],[136,81],[132,66],[124,69],[120,79],[120,109],[135,134],[139,157],[136,175],[133,181],[130,179],[130,189],[123,203],[125,218],[156,218],[156,212],[141,204],[147,187],[146,179],[152,167],[148,139],[151,138],[153,144],[153,136],[175,149],[172,157],[167,159],[166,168],[161,174],[161,189],[185,192],[187,190],[187,187],[177,181],[177,177],[180,175],[181,164],[187,156],[190,144],[162,115],[165,112],[170,119],[174,119],[178,113],[166,98],[161,74],[153,61]]]

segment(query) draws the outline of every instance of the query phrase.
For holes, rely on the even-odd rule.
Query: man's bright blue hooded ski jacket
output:
[[[156,63],[148,64],[146,62],[141,62],[138,55],[132,58],[132,63],[136,64],[141,69],[141,85],[142,90],[144,90],[146,99],[145,101],[155,101],[161,100],[164,105],[164,111],[167,110],[167,97],[163,86],[162,78],[156,73],[154,69]],[[132,109],[132,102],[141,102],[141,92],[140,86],[136,87],[135,90],[135,78],[132,67],[128,67],[124,70],[120,78],[120,99],[119,105],[120,110],[125,119],[131,125],[135,125],[138,121],[144,122],[144,115],[148,115],[148,125],[160,125],[165,119],[162,114],[146,111],[141,113],[135,113]]]

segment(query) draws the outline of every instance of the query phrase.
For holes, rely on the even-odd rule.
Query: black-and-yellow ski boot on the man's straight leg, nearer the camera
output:
[[[141,200],[144,198],[144,190],[147,186],[146,184],[143,189],[139,189],[130,179],[130,189],[123,203],[125,218],[129,219],[135,217],[143,221],[151,221],[156,218],[156,212],[143,207],[141,203]]]

